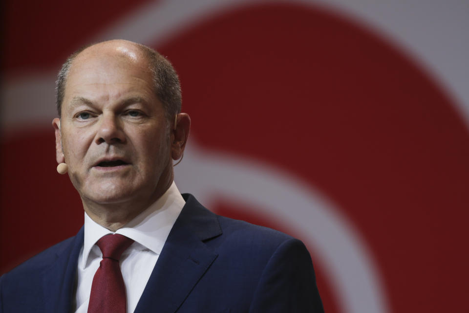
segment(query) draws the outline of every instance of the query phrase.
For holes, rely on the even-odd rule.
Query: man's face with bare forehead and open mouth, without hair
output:
[[[170,134],[138,50],[91,47],[76,57],[56,135],[84,204],[144,203],[161,195],[172,180]]]

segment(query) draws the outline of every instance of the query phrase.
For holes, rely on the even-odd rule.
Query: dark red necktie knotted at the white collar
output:
[[[119,259],[132,243],[132,239],[119,234],[108,234],[96,243],[103,260],[93,277],[88,313],[126,313],[126,287]]]

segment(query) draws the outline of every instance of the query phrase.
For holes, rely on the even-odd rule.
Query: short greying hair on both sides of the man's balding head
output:
[[[62,65],[62,68],[59,71],[59,74],[57,75],[56,105],[59,117],[62,114],[62,102],[64,101],[65,84],[70,67],[77,55],[92,45],[85,45],[77,51],[73,52],[66,59],[65,63]],[[171,121],[175,114],[181,112],[181,84],[179,82],[177,73],[172,67],[171,62],[160,53],[146,45],[135,45],[137,45],[140,51],[143,52],[149,62],[149,69],[153,74],[154,92],[158,99],[163,103],[167,119]]]

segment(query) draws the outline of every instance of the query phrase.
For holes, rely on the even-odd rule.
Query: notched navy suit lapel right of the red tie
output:
[[[191,195],[171,229],[135,313],[174,313],[213,263],[217,254],[204,240],[219,236],[216,216]]]

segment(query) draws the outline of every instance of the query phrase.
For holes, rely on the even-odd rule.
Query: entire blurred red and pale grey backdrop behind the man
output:
[[[181,192],[303,240],[326,312],[468,312],[468,3],[6,0],[0,272],[83,224],[55,75],[122,38],[180,75]]]

